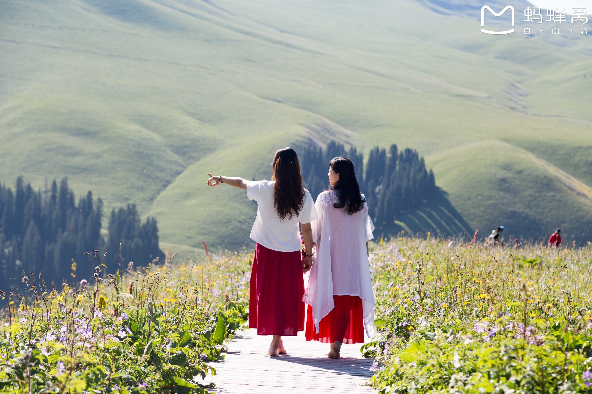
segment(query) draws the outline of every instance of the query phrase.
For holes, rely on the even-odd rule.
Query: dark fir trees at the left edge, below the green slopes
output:
[[[17,179],[14,190],[0,185],[0,289],[18,288],[24,273],[41,274],[46,284],[92,275],[84,252],[108,252],[111,268],[130,261],[146,264],[163,255],[158,247],[156,220],[141,223],[136,206],[113,210],[108,239],[101,236],[103,203],[91,191],[78,199],[67,179],[34,190]],[[76,263],[78,262],[78,263]],[[77,269],[78,267],[78,269]]]

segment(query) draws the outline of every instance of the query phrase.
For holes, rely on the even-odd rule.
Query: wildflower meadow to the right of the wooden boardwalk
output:
[[[380,241],[371,252],[381,393],[575,393],[592,386],[592,245]]]

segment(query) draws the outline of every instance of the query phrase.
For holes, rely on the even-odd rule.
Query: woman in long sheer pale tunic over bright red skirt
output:
[[[343,343],[363,343],[364,328],[368,337],[374,334],[368,265],[368,242],[374,236],[352,161],[332,159],[327,175],[329,190],[315,203],[313,268],[303,301],[308,304],[306,340],[330,343],[327,356],[338,359]]]

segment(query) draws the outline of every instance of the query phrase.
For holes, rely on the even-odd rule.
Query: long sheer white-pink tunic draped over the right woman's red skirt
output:
[[[363,199],[366,198],[363,196]],[[368,204],[352,215],[333,206],[337,192],[323,191],[315,203],[313,268],[303,301],[313,307],[313,323],[318,324],[334,308],[333,295],[357,295],[362,298],[366,335],[374,335],[374,292],[366,242],[373,239]]]

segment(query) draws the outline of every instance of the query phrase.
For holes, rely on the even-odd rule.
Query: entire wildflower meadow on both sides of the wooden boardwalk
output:
[[[3,292],[0,391],[207,393],[248,316],[252,250],[120,263]],[[484,246],[431,236],[370,248],[379,393],[575,393],[592,386],[592,245]],[[114,272],[114,273],[109,273]]]

